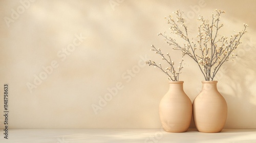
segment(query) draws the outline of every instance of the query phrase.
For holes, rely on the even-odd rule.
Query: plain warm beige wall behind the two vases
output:
[[[184,11],[191,36],[198,15],[210,18],[215,9],[226,11],[225,36],[249,25],[239,57],[225,63],[227,70],[215,80],[228,104],[225,128],[256,128],[256,1],[232,0],[0,1],[0,127],[7,83],[10,128],[161,128],[158,105],[168,80],[144,60],[160,59],[150,51],[154,44],[180,61],[180,53],[157,36],[168,32],[164,17],[177,9]],[[77,36],[81,43],[71,47]],[[184,60],[180,80],[193,101],[204,79],[191,59]],[[50,70],[52,62],[57,67]]]

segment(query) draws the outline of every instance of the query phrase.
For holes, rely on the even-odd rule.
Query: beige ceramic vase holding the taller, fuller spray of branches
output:
[[[218,81],[202,81],[203,87],[193,102],[195,125],[200,132],[220,132],[227,118],[227,103],[217,89]]]

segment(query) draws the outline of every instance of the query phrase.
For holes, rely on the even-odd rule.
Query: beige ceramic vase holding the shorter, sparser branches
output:
[[[162,127],[167,132],[186,132],[192,117],[192,103],[183,91],[183,81],[170,81],[159,104]]]

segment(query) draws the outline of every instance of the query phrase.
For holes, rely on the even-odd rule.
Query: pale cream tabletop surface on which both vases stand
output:
[[[0,142],[256,142],[256,129],[223,129],[220,133],[201,133],[189,129],[168,133],[163,129],[9,129],[8,139],[1,129]]]

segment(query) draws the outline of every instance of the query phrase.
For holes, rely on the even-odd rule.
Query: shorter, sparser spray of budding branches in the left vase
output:
[[[166,54],[167,57],[165,57],[162,54],[162,51],[160,49],[156,49],[156,47],[154,45],[151,45],[151,46],[153,47],[153,49],[151,51],[155,51],[156,54],[161,55],[162,60],[166,61],[169,66],[166,67],[164,70],[161,63],[156,64],[154,61],[149,60],[149,61],[146,61],[146,64],[153,65],[154,67],[158,67],[159,69],[161,69],[168,76],[169,80],[179,81],[179,75],[181,74],[180,71],[184,67],[184,66],[182,66],[183,59],[179,63],[180,66],[178,67],[178,72],[176,72],[176,70],[174,68],[174,61],[172,61],[172,59],[170,58],[169,53],[167,53]]]

